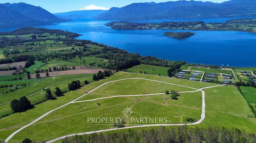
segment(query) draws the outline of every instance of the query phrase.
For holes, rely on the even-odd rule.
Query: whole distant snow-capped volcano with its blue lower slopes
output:
[[[64,19],[84,19],[84,18],[95,17],[99,14],[102,14],[102,13],[108,11],[108,10],[109,10],[108,8],[90,5],[87,7],[80,8],[75,11],[55,13],[55,15],[58,17],[64,18]]]

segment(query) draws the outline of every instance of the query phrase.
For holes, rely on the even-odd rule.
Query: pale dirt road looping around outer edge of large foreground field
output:
[[[190,88],[190,89],[195,89],[197,91],[201,91],[202,92],[202,113],[201,113],[201,119],[195,123],[189,123],[189,124],[152,124],[152,125],[139,125],[139,126],[131,126],[131,127],[124,127],[124,128],[114,128],[114,129],[105,129],[105,130],[99,130],[99,131],[91,131],[91,132],[84,132],[84,133],[76,133],[76,134],[70,134],[70,135],[66,135],[66,136],[62,136],[62,137],[59,137],[59,138],[56,138],[56,139],[53,139],[53,140],[50,140],[48,142],[54,142],[56,140],[59,140],[59,139],[63,139],[65,137],[70,137],[70,136],[74,136],[74,135],[83,135],[83,134],[91,134],[91,133],[99,133],[99,132],[105,132],[105,131],[113,131],[113,130],[120,130],[120,129],[129,129],[129,128],[139,128],[139,127],[153,127],[153,126],[183,126],[183,125],[197,125],[197,124],[200,124],[204,119],[205,119],[205,92],[203,91],[203,89],[208,89],[208,88],[215,88],[215,87],[220,87],[220,86],[223,86],[223,85],[216,85],[216,86],[213,86],[213,87],[206,87],[206,88],[202,88],[202,89],[196,89],[196,88],[191,88],[191,87],[187,87],[187,86],[184,86],[184,85],[178,85],[178,84],[173,84],[173,83],[168,83],[168,82],[163,82],[163,81],[157,81],[157,80],[151,80],[151,79],[144,79],[144,78],[125,78],[125,79],[119,79],[119,80],[114,80],[114,81],[109,81],[109,82],[105,82],[101,85],[99,85],[99,87],[91,90],[90,92],[76,98],[75,100],[73,101],[70,101],[62,106],[59,106],[53,110],[50,110],[48,111],[47,113],[45,113],[44,115],[42,115],[41,117],[37,118],[36,120],[32,121],[31,123],[27,124],[26,126],[16,130],[15,132],[13,132],[9,137],[6,138],[5,142],[8,142],[15,134],[17,134],[18,132],[22,131],[23,129],[27,128],[28,126],[34,124],[35,122],[39,121],[40,119],[46,117],[47,115],[49,115],[49,113],[61,108],[61,107],[64,107],[64,106],[67,106],[71,103],[74,103],[75,101],[77,101],[78,99],[90,94],[91,92],[99,89],[100,87],[102,87],[103,85],[105,84],[108,84],[108,83],[111,83],[111,82],[116,82],[116,81],[121,81],[121,80],[127,80],[127,79],[142,79],[142,80],[149,80],[149,81],[156,81],[156,82],[161,82],[161,83],[167,83],[167,84],[172,84],[172,85],[177,85],[179,87],[185,87],[185,88]],[[196,92],[196,91],[189,91],[189,92]],[[110,98],[110,97],[104,97],[104,98]],[[103,99],[104,99],[103,98]],[[101,98],[102,99],[102,98]]]

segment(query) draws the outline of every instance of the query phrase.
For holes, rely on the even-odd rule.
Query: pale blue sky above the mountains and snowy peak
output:
[[[132,3],[143,3],[143,2],[168,2],[176,0],[0,0],[0,3],[27,3],[34,6],[40,6],[51,13],[56,12],[67,12],[77,10],[82,7],[89,5],[96,5],[98,7],[112,8],[112,7],[123,7]],[[195,0],[199,1],[199,0]],[[222,3],[228,0],[201,0],[203,2],[214,2]]]

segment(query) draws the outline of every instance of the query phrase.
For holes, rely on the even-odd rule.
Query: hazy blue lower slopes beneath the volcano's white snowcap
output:
[[[84,19],[92,18],[99,14],[106,12],[107,10],[80,10],[63,13],[55,13],[54,15],[64,19]]]

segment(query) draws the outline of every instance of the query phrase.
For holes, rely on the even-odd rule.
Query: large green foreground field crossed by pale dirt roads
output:
[[[118,72],[106,79],[91,82],[79,90],[68,92],[65,96],[58,97],[56,100],[38,104],[35,108],[26,112],[15,113],[11,116],[2,118],[0,120],[0,139],[4,140],[12,132],[35,120],[47,111],[68,103],[107,81],[131,77],[154,79],[194,88],[217,85],[214,83],[168,78],[157,75]],[[147,80],[129,79],[117,81],[116,83],[112,82],[105,84],[103,87],[95,90],[93,93],[90,93],[88,97],[85,96],[80,100],[106,97],[110,95],[161,93],[164,92],[163,90],[165,89],[193,91],[193,89],[177,87],[175,85],[168,86],[168,84],[159,84],[158,82],[154,83],[153,81],[147,82]],[[225,128],[234,127],[244,129],[245,132],[256,132],[256,120],[255,118],[248,118],[249,115],[252,115],[252,112],[236,87],[228,85],[204,91],[206,118],[197,126],[208,127],[215,125]],[[36,139],[36,141],[47,141],[72,133],[113,128],[113,126],[109,125],[96,126],[94,124],[88,124],[87,118],[123,117],[121,112],[127,106],[132,109],[132,117],[135,118],[167,116],[168,123],[187,123],[187,121],[184,121],[185,118],[193,118],[195,120],[200,119],[202,106],[201,92],[181,93],[180,95],[181,96],[178,97],[178,100],[170,100],[169,95],[163,94],[154,96],[109,98],[89,102],[72,103],[50,113],[47,117],[17,133],[10,142],[19,142],[26,137]],[[101,105],[98,106],[97,102]],[[126,123],[132,124],[129,120],[127,120]],[[33,132],[33,134],[28,134],[28,132]]]

